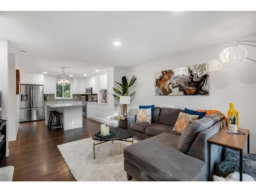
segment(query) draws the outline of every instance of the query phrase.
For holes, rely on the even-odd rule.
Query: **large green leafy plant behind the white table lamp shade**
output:
[[[136,78],[135,76],[133,76],[133,78],[131,79],[131,81],[128,83],[126,76],[123,76],[123,77],[122,77],[122,83],[115,81],[115,82],[118,84],[118,86],[120,86],[120,87],[122,88],[122,91],[120,91],[120,90],[117,89],[117,88],[113,88],[113,87],[112,87],[112,88],[114,89],[114,91],[118,94],[118,95],[114,95],[114,94],[113,94],[114,97],[117,98],[117,99],[120,99],[120,96],[129,96],[129,88],[133,86],[133,84],[134,84],[134,82],[135,82],[136,79],[137,79],[137,78]],[[131,97],[134,93],[135,93],[135,91],[130,95],[130,97]]]

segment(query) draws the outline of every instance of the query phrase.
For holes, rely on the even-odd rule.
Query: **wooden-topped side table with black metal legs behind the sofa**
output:
[[[217,134],[212,136],[207,140],[208,143],[208,181],[211,179],[210,173],[210,145],[215,144],[227,148],[231,148],[232,150],[237,150],[240,152],[240,162],[239,162],[239,173],[240,173],[240,181],[243,181],[243,148],[245,146],[247,140],[247,153],[250,151],[250,130],[239,129],[239,131],[245,133],[245,135],[237,135],[237,134],[227,134],[222,130],[227,130],[228,127],[223,127]]]

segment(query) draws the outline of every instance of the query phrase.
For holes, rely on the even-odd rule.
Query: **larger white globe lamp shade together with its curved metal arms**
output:
[[[220,54],[221,60],[223,62],[227,62],[230,64],[239,63],[245,59],[249,59],[251,61],[256,62],[255,60],[247,57],[247,50],[244,46],[242,46],[242,45],[247,45],[247,46],[256,47],[256,45],[251,45],[251,44],[248,44],[247,42],[252,42],[254,44],[256,43],[256,41],[251,41],[251,40],[238,40],[234,43],[234,46],[225,48],[221,52]]]

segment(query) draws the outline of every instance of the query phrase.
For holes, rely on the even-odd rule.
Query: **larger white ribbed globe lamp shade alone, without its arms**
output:
[[[244,46],[241,45],[228,47],[224,49],[220,54],[221,60],[230,64],[242,62],[246,57],[247,50]]]

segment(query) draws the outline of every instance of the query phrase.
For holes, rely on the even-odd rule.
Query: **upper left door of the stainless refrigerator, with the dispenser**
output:
[[[20,85],[19,108],[31,108],[31,88],[29,84]]]

